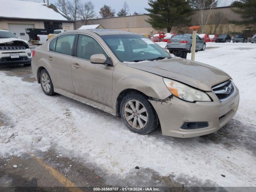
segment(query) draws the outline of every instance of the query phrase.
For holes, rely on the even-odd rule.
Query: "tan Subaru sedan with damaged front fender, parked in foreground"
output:
[[[131,32],[61,33],[35,49],[32,71],[46,95],[62,94],[120,115],[138,134],[158,126],[166,136],[210,134],[234,116],[239,103],[238,89],[225,72],[171,58]]]

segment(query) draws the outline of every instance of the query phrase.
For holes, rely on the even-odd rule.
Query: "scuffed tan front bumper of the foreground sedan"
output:
[[[150,100],[158,114],[162,134],[166,136],[189,138],[216,132],[222,128],[236,114],[239,104],[239,92],[225,102],[220,102],[212,93],[208,92],[213,102],[185,102],[172,97],[167,102]],[[197,129],[181,128],[185,122],[208,122],[208,126]]]

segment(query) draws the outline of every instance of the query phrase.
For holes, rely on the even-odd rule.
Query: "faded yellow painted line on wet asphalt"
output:
[[[33,156],[33,159],[40,163],[46,170],[48,170],[52,176],[54,176],[63,186],[70,187],[68,190],[70,192],[83,192],[80,188],[76,187],[76,185],[71,182],[68,178],[62,175],[60,172],[49,166],[48,164],[44,163],[42,160]]]

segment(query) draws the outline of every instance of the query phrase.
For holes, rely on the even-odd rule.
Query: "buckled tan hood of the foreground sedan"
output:
[[[204,91],[231,77],[215,67],[182,58],[128,63],[127,66],[183,82]]]

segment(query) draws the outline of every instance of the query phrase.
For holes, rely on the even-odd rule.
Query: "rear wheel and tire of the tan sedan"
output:
[[[41,84],[41,88],[42,88],[43,92],[46,95],[52,96],[52,95],[56,94],[53,90],[52,80],[51,80],[50,75],[46,69],[43,69],[40,72],[40,84]]]

